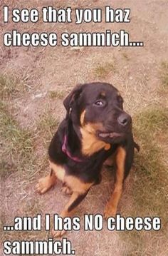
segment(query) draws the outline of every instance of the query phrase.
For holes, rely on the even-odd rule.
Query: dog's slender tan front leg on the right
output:
[[[117,155],[116,155],[116,165],[117,165],[117,172],[116,172],[116,182],[115,182],[115,189],[111,195],[110,200],[107,202],[105,206],[105,217],[113,216],[115,217],[117,213],[117,205],[120,200],[120,196],[122,195],[122,185],[124,180],[124,173],[125,173],[125,149],[118,148]]]

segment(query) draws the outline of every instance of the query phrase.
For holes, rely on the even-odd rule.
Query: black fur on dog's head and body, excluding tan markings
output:
[[[101,92],[105,96],[101,95]],[[105,101],[105,107],[95,106],[99,99]],[[122,106],[122,98],[118,95],[115,87],[108,83],[88,83],[77,86],[64,100],[67,111],[49,146],[49,157],[53,163],[63,165],[66,175],[74,175],[83,183],[100,183],[101,169],[104,161],[116,152],[119,146],[126,151],[125,178],[130,172],[134,158],[134,148],[138,148],[132,136],[132,122],[122,127],[117,118],[125,113]],[[121,134],[113,138],[101,138],[110,143],[110,150],[100,149],[93,155],[83,155],[81,152],[82,135],[80,133],[80,115],[85,110],[85,123],[102,123],[107,133],[114,132]],[[129,116],[130,118],[130,116]],[[97,131],[100,132],[99,130]],[[97,135],[98,135],[97,133]],[[81,162],[76,162],[63,153],[62,145],[64,135],[68,138],[67,148],[71,155],[78,157]],[[99,138],[100,139],[100,138]]]

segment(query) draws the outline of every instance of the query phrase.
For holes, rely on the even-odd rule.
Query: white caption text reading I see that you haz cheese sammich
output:
[[[75,16],[75,19],[73,19]],[[20,33],[13,29],[11,32],[4,33],[4,46],[144,46],[142,41],[130,41],[130,36],[127,31],[112,31],[112,24],[121,23],[129,24],[131,22],[130,9],[112,9],[111,6],[105,6],[104,9],[72,9],[70,6],[63,9],[56,9],[53,6],[43,6],[38,9],[12,9],[9,11],[9,6],[4,6],[4,24],[13,22],[18,24],[26,24],[31,22],[36,24],[40,19],[46,24],[68,24],[74,23],[76,28],[80,24],[93,23],[95,24],[94,32],[78,32],[68,33],[62,31],[58,36],[56,31],[47,33]],[[96,31],[96,24],[105,22],[110,29],[99,32]]]

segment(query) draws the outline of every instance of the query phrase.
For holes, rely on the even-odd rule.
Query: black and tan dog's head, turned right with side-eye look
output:
[[[88,133],[98,141],[117,143],[132,132],[132,119],[123,110],[123,99],[109,83],[76,86],[63,103],[67,118],[83,136]]]

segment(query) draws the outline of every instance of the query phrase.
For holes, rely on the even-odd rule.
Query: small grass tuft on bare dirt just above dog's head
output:
[[[93,71],[98,78],[105,78],[111,72],[115,72],[115,65],[112,62],[98,64]]]

